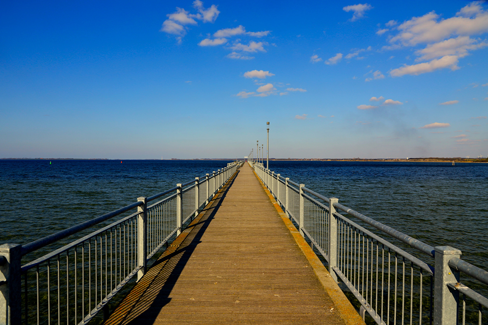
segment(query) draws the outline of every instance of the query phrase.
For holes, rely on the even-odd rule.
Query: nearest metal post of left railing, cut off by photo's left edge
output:
[[[22,245],[0,245],[0,324],[20,325]]]

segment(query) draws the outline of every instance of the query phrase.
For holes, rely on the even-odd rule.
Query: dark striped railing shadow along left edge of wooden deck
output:
[[[196,246],[201,243],[203,233],[214,219],[215,214],[222,205],[227,192],[234,183],[239,170],[229,179],[224,185],[224,190],[219,192],[210,202],[216,203],[205,207],[202,212],[205,213],[200,220],[195,223],[190,223],[186,229],[183,230],[166,251],[171,249],[171,246],[177,246],[174,251],[164,254],[154,262],[151,269],[160,269],[158,274],[148,284],[142,293],[138,294],[136,300],[127,302],[125,299],[121,305],[117,307],[114,314],[110,317],[104,325],[118,325],[118,324],[137,324],[139,321],[154,322],[158,316],[159,311],[166,306],[172,298],[169,297],[176,282],[180,277],[181,270],[185,267],[190,259]],[[149,270],[148,274],[150,273]],[[142,279],[143,280],[143,279]],[[137,287],[137,286],[136,286]],[[137,290],[134,287],[133,290]],[[127,297],[130,296],[130,293]],[[129,308],[123,308],[123,304],[131,305]],[[122,308],[120,308],[122,306]],[[123,309],[123,315],[116,315],[118,309]],[[120,317],[122,316],[122,317]]]

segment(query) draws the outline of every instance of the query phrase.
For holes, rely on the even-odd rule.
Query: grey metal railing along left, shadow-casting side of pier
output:
[[[139,197],[34,242],[0,245],[0,325],[85,324],[100,310],[106,318],[108,302],[136,274],[138,281],[142,278],[149,259],[183,231],[242,164]],[[126,212],[132,213],[21,265],[22,256]]]

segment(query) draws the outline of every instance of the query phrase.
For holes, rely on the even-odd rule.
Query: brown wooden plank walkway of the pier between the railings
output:
[[[244,164],[105,324],[364,325],[340,314],[278,212]]]

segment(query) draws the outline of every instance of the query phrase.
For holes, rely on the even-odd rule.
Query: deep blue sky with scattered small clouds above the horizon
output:
[[[0,157],[488,154],[487,2],[1,6]]]

